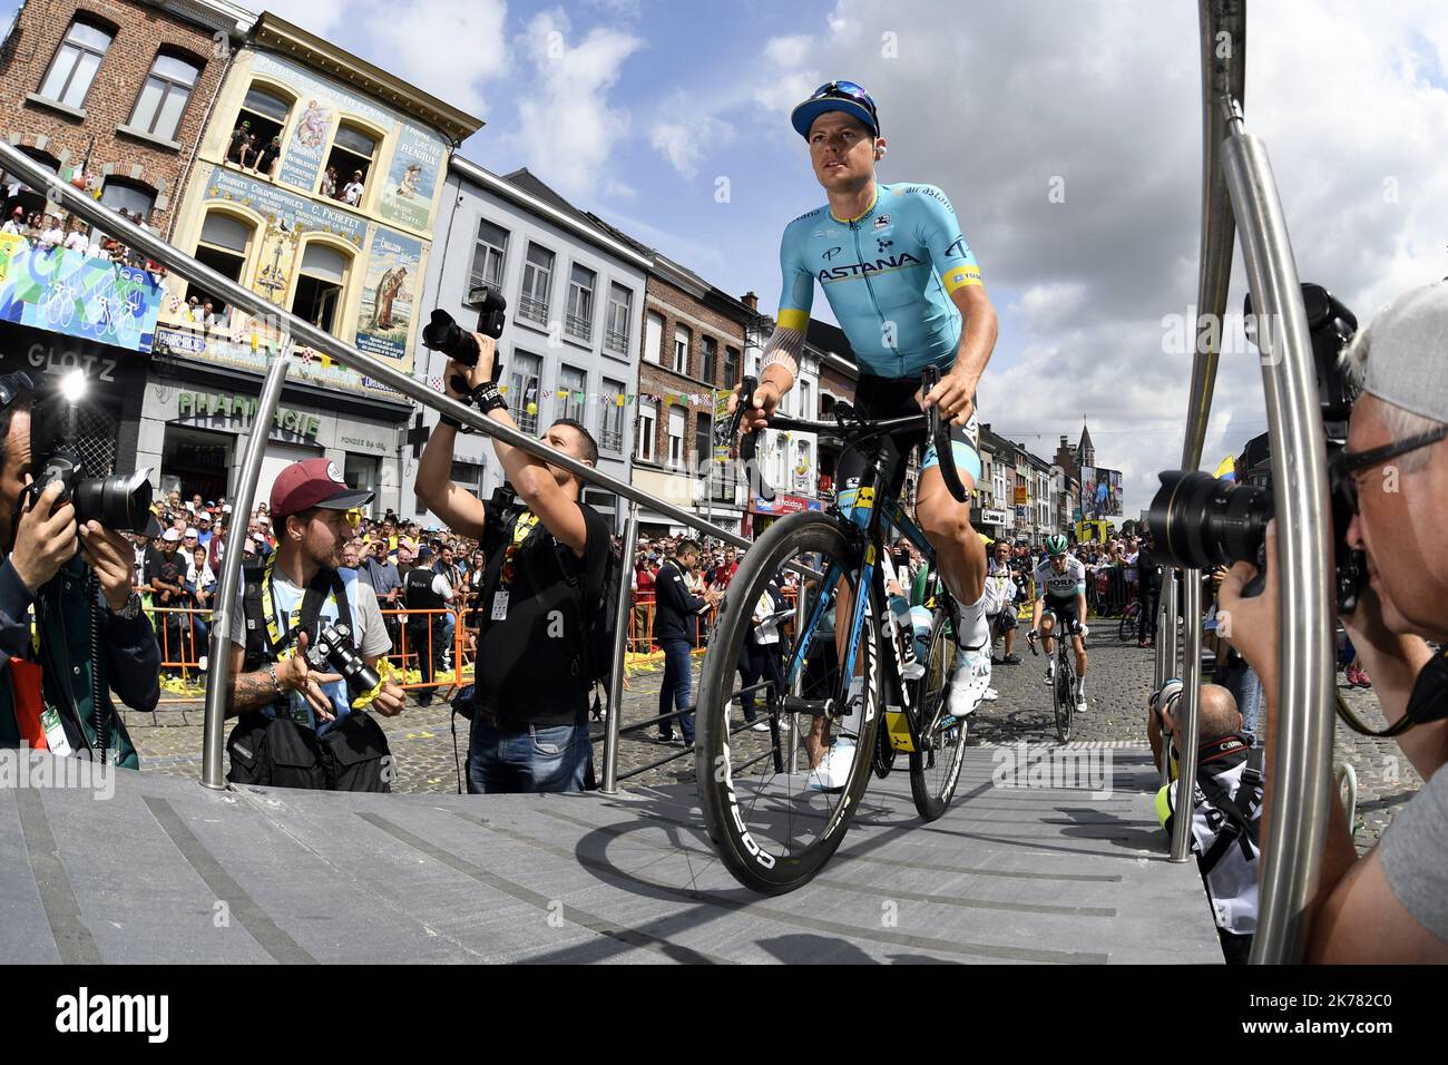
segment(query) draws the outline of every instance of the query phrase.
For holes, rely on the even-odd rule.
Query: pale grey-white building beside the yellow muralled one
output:
[[[481,285],[501,293],[508,309],[498,384],[518,427],[540,435],[557,417],[576,419],[598,442],[598,469],[627,481],[649,259],[526,170],[500,177],[453,156],[443,203],[439,226],[453,242],[429,264],[423,307],[475,329],[472,294]],[[442,352],[418,349],[421,378],[442,387],[445,365]],[[430,407],[414,414],[408,484],[436,425]],[[492,440],[460,433],[453,483],[488,497],[502,480]],[[613,493],[589,487],[584,500],[617,527]],[[403,513],[421,516],[410,491]]]

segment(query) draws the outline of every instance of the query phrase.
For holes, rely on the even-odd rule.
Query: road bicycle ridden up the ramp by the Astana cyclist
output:
[[[940,380],[938,372],[927,371],[925,391]],[[728,439],[738,432],[743,410],[753,404],[754,387],[754,378],[746,377]],[[853,496],[841,493],[828,511],[780,517],[746,552],[720,604],[699,678],[695,765],[710,839],[738,882],[782,894],[807,884],[824,866],[860,806],[872,769],[883,777],[898,753],[909,758],[911,794],[921,817],[940,817],[954,795],[969,720],[946,709],[959,610],[938,574],[928,600],[928,633],[917,638],[914,626],[901,626],[889,607],[882,567],[885,533],[898,530],[921,551],[927,565],[935,558],[891,490],[889,436],[924,429],[935,443],[950,493],[960,501],[969,496],[956,472],[948,425],[941,425],[934,407],[867,422],[840,403],[833,422],[770,416],[769,427],[834,438],[846,451],[857,449],[866,458]],[[740,455],[753,471],[753,491],[769,500],[773,493],[754,461],[757,439],[759,430],[746,435]],[[794,575],[786,580],[798,580],[798,606],[795,625],[779,643],[782,682],[766,680],[741,688],[740,651],[750,638],[760,596],[785,574]],[[917,639],[924,645],[918,658]],[[782,690],[773,691],[775,684]],[[754,691],[769,696],[770,742],[753,753],[744,745],[757,740],[746,738],[736,745],[741,748],[736,755],[731,742],[750,726],[731,726],[728,706]],[[835,733],[830,781],[796,765],[799,729],[782,727],[785,714],[830,723]],[[788,751],[780,739],[785,735]],[[846,758],[847,771],[841,767]]]

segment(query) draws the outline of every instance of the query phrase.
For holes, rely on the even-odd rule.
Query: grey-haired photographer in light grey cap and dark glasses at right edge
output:
[[[1429,651],[1423,636],[1448,636],[1448,284],[1400,297],[1357,333],[1347,359],[1361,396],[1335,472],[1354,510],[1347,546],[1365,552],[1370,578],[1342,620],[1383,716],[1390,724],[1405,716],[1415,722],[1397,743],[1426,782],[1364,858],[1342,804],[1331,800],[1322,880],[1305,914],[1305,956],[1445,962],[1448,658]],[[1290,622],[1277,616],[1277,559],[1270,525],[1261,594],[1242,596],[1257,574],[1247,562],[1234,565],[1221,588],[1231,642],[1266,688],[1268,765],[1280,709],[1279,626]]]

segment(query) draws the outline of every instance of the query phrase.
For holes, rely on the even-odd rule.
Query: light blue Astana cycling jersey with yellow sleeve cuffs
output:
[[[779,326],[805,330],[818,281],[860,368],[886,378],[948,368],[960,345],[950,294],[980,284],[946,194],[904,183],[877,185],[857,219],[840,220],[828,206],[801,214],[785,229],[779,268]]]

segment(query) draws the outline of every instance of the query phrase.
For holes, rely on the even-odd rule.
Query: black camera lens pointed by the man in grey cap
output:
[[[1183,569],[1255,561],[1271,519],[1271,494],[1251,484],[1224,484],[1200,471],[1160,474],[1147,527],[1157,558]]]

